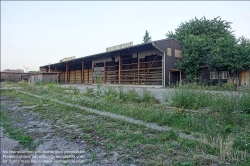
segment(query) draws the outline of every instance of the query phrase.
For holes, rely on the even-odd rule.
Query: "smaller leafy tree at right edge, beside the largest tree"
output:
[[[236,39],[231,35],[218,38],[206,62],[210,70],[228,70],[235,77],[236,70],[250,67],[249,40],[245,37]]]

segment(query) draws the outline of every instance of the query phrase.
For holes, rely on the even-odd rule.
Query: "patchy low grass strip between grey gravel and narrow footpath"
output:
[[[21,99],[22,103],[29,102],[30,105],[40,102],[48,104],[47,101],[18,93],[15,90],[4,91],[3,95],[16,97]],[[218,148],[182,139],[173,130],[169,132],[155,131],[141,125],[95,115],[84,110],[72,109],[54,102],[49,103],[46,107],[33,108],[32,111],[61,126],[63,130],[59,130],[57,134],[68,137],[70,140],[81,138],[81,140],[108,151],[117,151],[120,157],[118,160],[125,163],[180,165],[190,162],[194,164],[193,157],[197,154],[219,155]],[[72,128],[72,125],[77,126],[77,128]],[[109,158],[111,155],[107,153],[106,157]],[[96,159],[94,154],[91,156]],[[203,165],[204,162],[207,160],[201,159],[197,163]],[[211,161],[211,163],[214,162]]]

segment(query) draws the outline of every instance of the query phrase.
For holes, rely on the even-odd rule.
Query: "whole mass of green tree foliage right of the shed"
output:
[[[249,40],[238,40],[231,31],[231,22],[216,17],[207,20],[191,19],[181,23],[175,32],[168,32],[168,38],[176,38],[182,43],[183,58],[178,67],[193,81],[199,66],[207,64],[210,71],[246,69],[250,66]],[[237,63],[235,63],[237,62]]]

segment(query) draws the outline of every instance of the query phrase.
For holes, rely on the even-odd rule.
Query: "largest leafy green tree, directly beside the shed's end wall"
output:
[[[166,34],[167,38],[176,38],[182,43],[183,58],[182,61],[178,62],[178,66],[186,72],[189,81],[192,81],[200,65],[207,63],[206,61],[211,60],[211,58],[219,58],[212,56],[214,47],[219,38],[233,36],[230,24],[231,22],[221,20],[220,17],[212,20],[205,17],[195,18],[181,23],[175,32]]]

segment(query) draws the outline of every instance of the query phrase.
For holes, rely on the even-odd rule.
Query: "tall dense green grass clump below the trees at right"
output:
[[[223,113],[249,113],[250,93],[248,89],[239,92],[209,92],[196,85],[180,85],[171,94],[172,104],[179,108],[199,109],[208,107]]]

